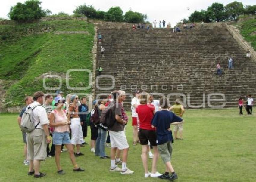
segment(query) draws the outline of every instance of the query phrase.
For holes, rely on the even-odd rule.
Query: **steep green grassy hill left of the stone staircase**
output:
[[[6,89],[4,106],[23,105],[23,98],[45,90],[43,77],[62,78],[61,90],[67,93],[89,93],[90,90],[68,90],[69,69],[92,69],[91,50],[94,26],[82,20],[54,20],[30,24],[0,25],[0,79]],[[71,87],[86,87],[88,74],[72,72]],[[58,87],[56,78],[46,79],[47,87]]]

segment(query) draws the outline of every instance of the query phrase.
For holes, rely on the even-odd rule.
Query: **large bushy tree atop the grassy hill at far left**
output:
[[[39,6],[42,2],[38,0],[25,1],[24,3],[18,2],[15,6],[12,6],[8,16],[11,20],[17,22],[31,22],[39,20],[44,17],[47,12],[42,10]]]

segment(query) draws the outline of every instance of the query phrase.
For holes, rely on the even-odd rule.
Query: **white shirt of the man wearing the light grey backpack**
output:
[[[32,104],[30,104],[31,107],[35,105],[41,105],[39,102],[35,101]],[[37,125],[36,128],[42,128],[42,125],[49,124],[49,119],[47,117],[47,113],[44,107],[37,106],[32,113],[32,121],[34,122],[34,126],[38,124],[40,121],[39,125]]]

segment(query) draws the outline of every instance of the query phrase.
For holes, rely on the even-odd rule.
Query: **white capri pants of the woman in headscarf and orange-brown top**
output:
[[[82,144],[83,143],[83,130],[80,122],[80,118],[71,119],[71,144]]]

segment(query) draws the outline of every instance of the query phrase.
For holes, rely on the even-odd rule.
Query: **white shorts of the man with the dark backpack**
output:
[[[109,131],[111,148],[118,148],[119,150],[129,148],[124,131]]]

